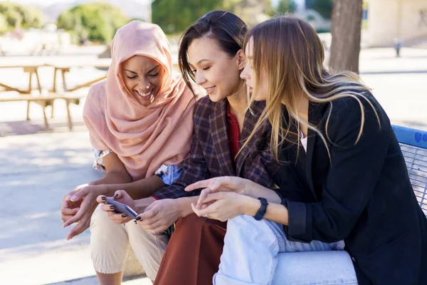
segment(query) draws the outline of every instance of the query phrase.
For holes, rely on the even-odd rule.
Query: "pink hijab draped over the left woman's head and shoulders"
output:
[[[121,63],[132,56],[153,58],[164,68],[159,93],[141,105],[122,80]],[[162,165],[179,165],[193,134],[193,93],[174,73],[162,29],[142,21],[120,28],[112,40],[107,79],[89,90],[83,118],[97,150],[112,150],[134,180],[154,175]]]

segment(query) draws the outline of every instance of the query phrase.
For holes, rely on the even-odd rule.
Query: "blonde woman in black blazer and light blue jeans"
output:
[[[369,89],[323,68],[320,38],[301,19],[255,26],[246,56],[241,77],[267,105],[253,132],[265,120],[273,126],[280,191],[238,177],[187,187],[206,188],[196,214],[228,219],[214,284],[427,284],[427,219]],[[343,248],[347,258],[328,267],[328,252]],[[310,251],[325,251],[317,267],[310,254],[287,259]]]

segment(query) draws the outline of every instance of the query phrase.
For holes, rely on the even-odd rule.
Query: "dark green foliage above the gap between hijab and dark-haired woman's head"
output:
[[[155,0],[152,21],[165,33],[179,33],[209,11],[221,9],[223,0]]]

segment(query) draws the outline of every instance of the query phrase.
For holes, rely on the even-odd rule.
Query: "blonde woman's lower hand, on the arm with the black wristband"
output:
[[[253,212],[253,209],[258,209],[259,204],[258,199],[236,192],[215,192],[206,195],[203,200],[199,199],[197,205],[191,204],[191,208],[199,217],[225,222],[239,214],[255,215],[256,210]]]

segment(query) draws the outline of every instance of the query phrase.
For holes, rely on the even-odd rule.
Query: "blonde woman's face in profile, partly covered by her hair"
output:
[[[241,73],[241,78],[246,81],[249,92],[255,89],[255,70],[253,69],[253,38],[250,38],[246,45],[247,64]],[[255,100],[265,101],[268,92],[268,76],[264,70],[260,74],[259,86],[256,86],[257,94]]]

